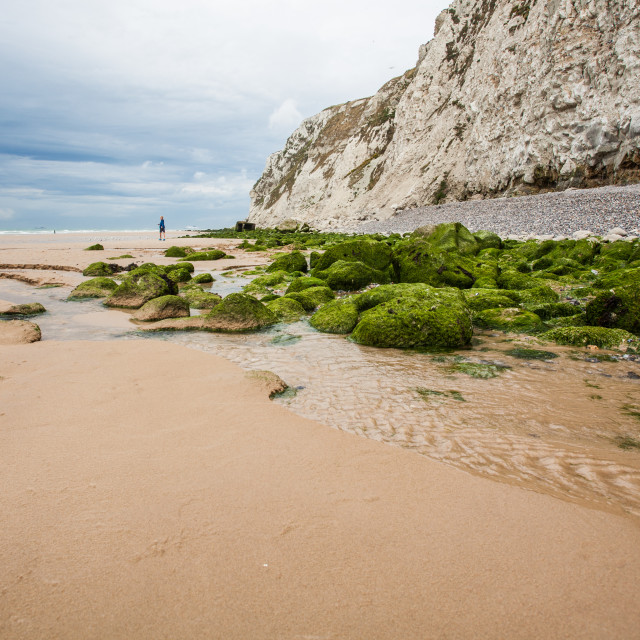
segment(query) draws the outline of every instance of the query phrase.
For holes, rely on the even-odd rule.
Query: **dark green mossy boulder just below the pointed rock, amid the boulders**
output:
[[[434,287],[468,289],[477,279],[477,264],[454,251],[435,250],[427,240],[421,238],[399,242],[393,252],[398,282],[424,282]],[[495,277],[497,266],[494,269]],[[487,277],[486,270],[483,270],[483,275]]]

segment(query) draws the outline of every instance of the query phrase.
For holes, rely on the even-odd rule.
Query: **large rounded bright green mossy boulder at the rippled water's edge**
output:
[[[376,347],[462,347],[472,333],[460,291],[422,285],[363,312],[351,338]]]

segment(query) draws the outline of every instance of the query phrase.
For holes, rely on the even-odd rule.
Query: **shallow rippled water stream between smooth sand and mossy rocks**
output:
[[[213,290],[230,293],[245,283],[222,278]],[[609,361],[603,351],[540,347],[501,333],[479,335],[472,349],[451,353],[375,349],[318,333],[307,322],[256,334],[140,336],[127,314],[95,301],[64,302],[68,292],[0,282],[0,298],[37,300],[50,309],[35,318],[45,340],[145,338],[209,351],[277,373],[297,390],[277,401],[305,417],[473,473],[640,516],[640,451],[623,450],[617,440],[640,439],[640,359],[633,356]],[[505,353],[514,346],[559,357],[521,360]],[[496,377],[472,377],[461,363],[494,365],[489,372]]]

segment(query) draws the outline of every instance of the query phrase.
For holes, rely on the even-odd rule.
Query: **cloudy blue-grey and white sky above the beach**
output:
[[[8,0],[0,230],[223,227],[306,118],[415,64],[447,0]]]

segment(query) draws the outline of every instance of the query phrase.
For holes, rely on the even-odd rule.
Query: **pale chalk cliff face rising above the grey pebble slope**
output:
[[[638,177],[638,0],[455,0],[414,69],[305,120],[268,158],[249,219],[349,226]]]

